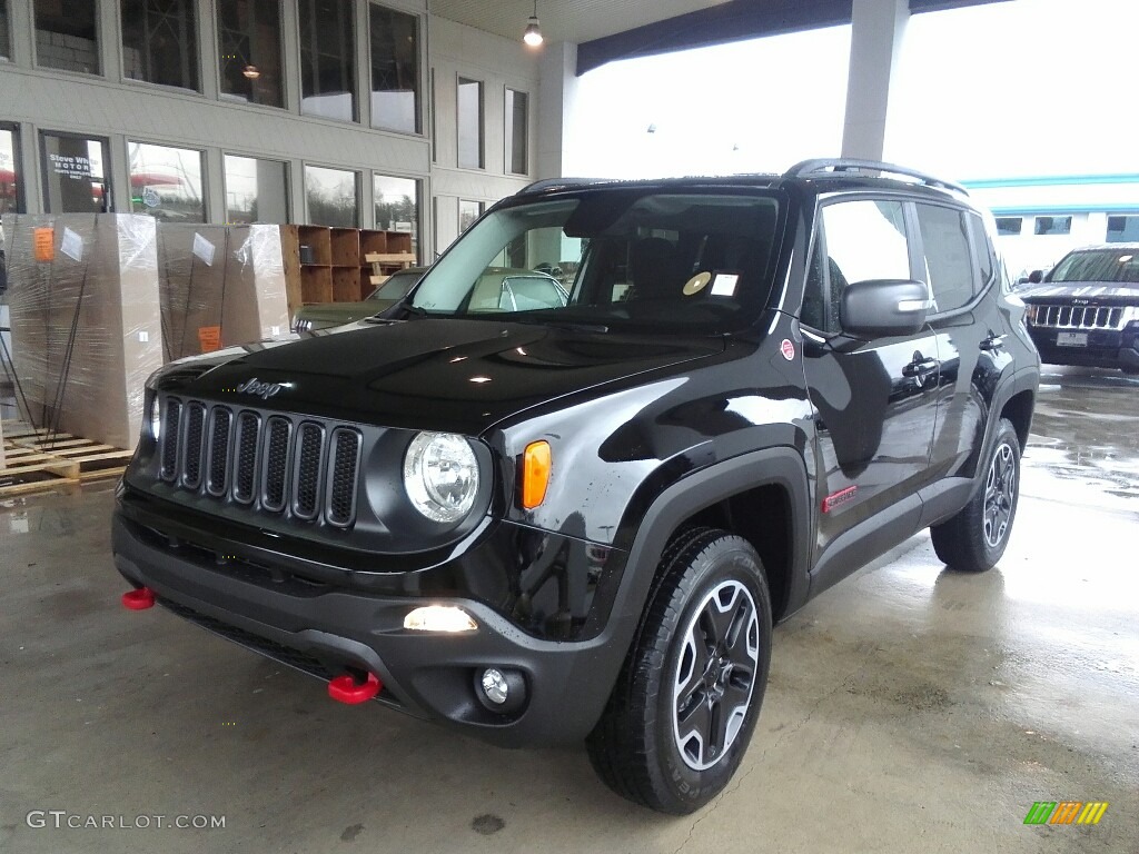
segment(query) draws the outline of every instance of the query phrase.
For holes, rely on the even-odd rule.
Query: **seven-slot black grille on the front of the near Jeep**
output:
[[[215,499],[337,527],[355,520],[361,438],[351,427],[165,399],[159,477]]]

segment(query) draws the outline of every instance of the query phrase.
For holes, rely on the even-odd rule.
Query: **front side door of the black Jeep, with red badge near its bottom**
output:
[[[847,285],[917,278],[908,221],[906,200],[872,197],[831,202],[818,217],[801,322],[809,327],[804,370],[818,437],[816,564],[843,537],[836,548],[850,549],[850,559],[830,570],[837,577],[892,544],[878,548],[874,528],[894,540],[917,529],[916,493],[929,481],[939,378],[933,329],[862,340],[843,334],[838,318]],[[858,531],[861,523],[868,524]]]

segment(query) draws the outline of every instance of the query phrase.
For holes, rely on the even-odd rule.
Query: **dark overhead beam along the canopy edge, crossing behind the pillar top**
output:
[[[910,13],[1008,0],[909,0]],[[577,46],[577,76],[606,63],[850,24],[853,0],[729,0]]]

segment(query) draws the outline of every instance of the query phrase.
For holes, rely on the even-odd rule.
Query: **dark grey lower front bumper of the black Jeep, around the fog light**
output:
[[[380,703],[506,746],[583,739],[624,659],[626,644],[614,643],[614,633],[631,634],[608,625],[590,640],[542,640],[473,598],[374,593],[219,563],[213,551],[173,545],[122,507],[112,523],[112,547],[123,577],[153,590],[179,616],[323,680],[374,673],[384,685]],[[478,629],[405,630],[408,611],[427,603],[459,605]],[[478,700],[476,678],[491,666],[523,675],[526,700],[510,714]]]

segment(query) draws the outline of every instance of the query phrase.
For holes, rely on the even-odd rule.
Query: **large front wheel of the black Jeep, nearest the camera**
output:
[[[683,815],[728,785],[747,750],[771,662],[771,597],[755,549],[713,528],[678,534],[657,577],[587,747],[615,793]]]

